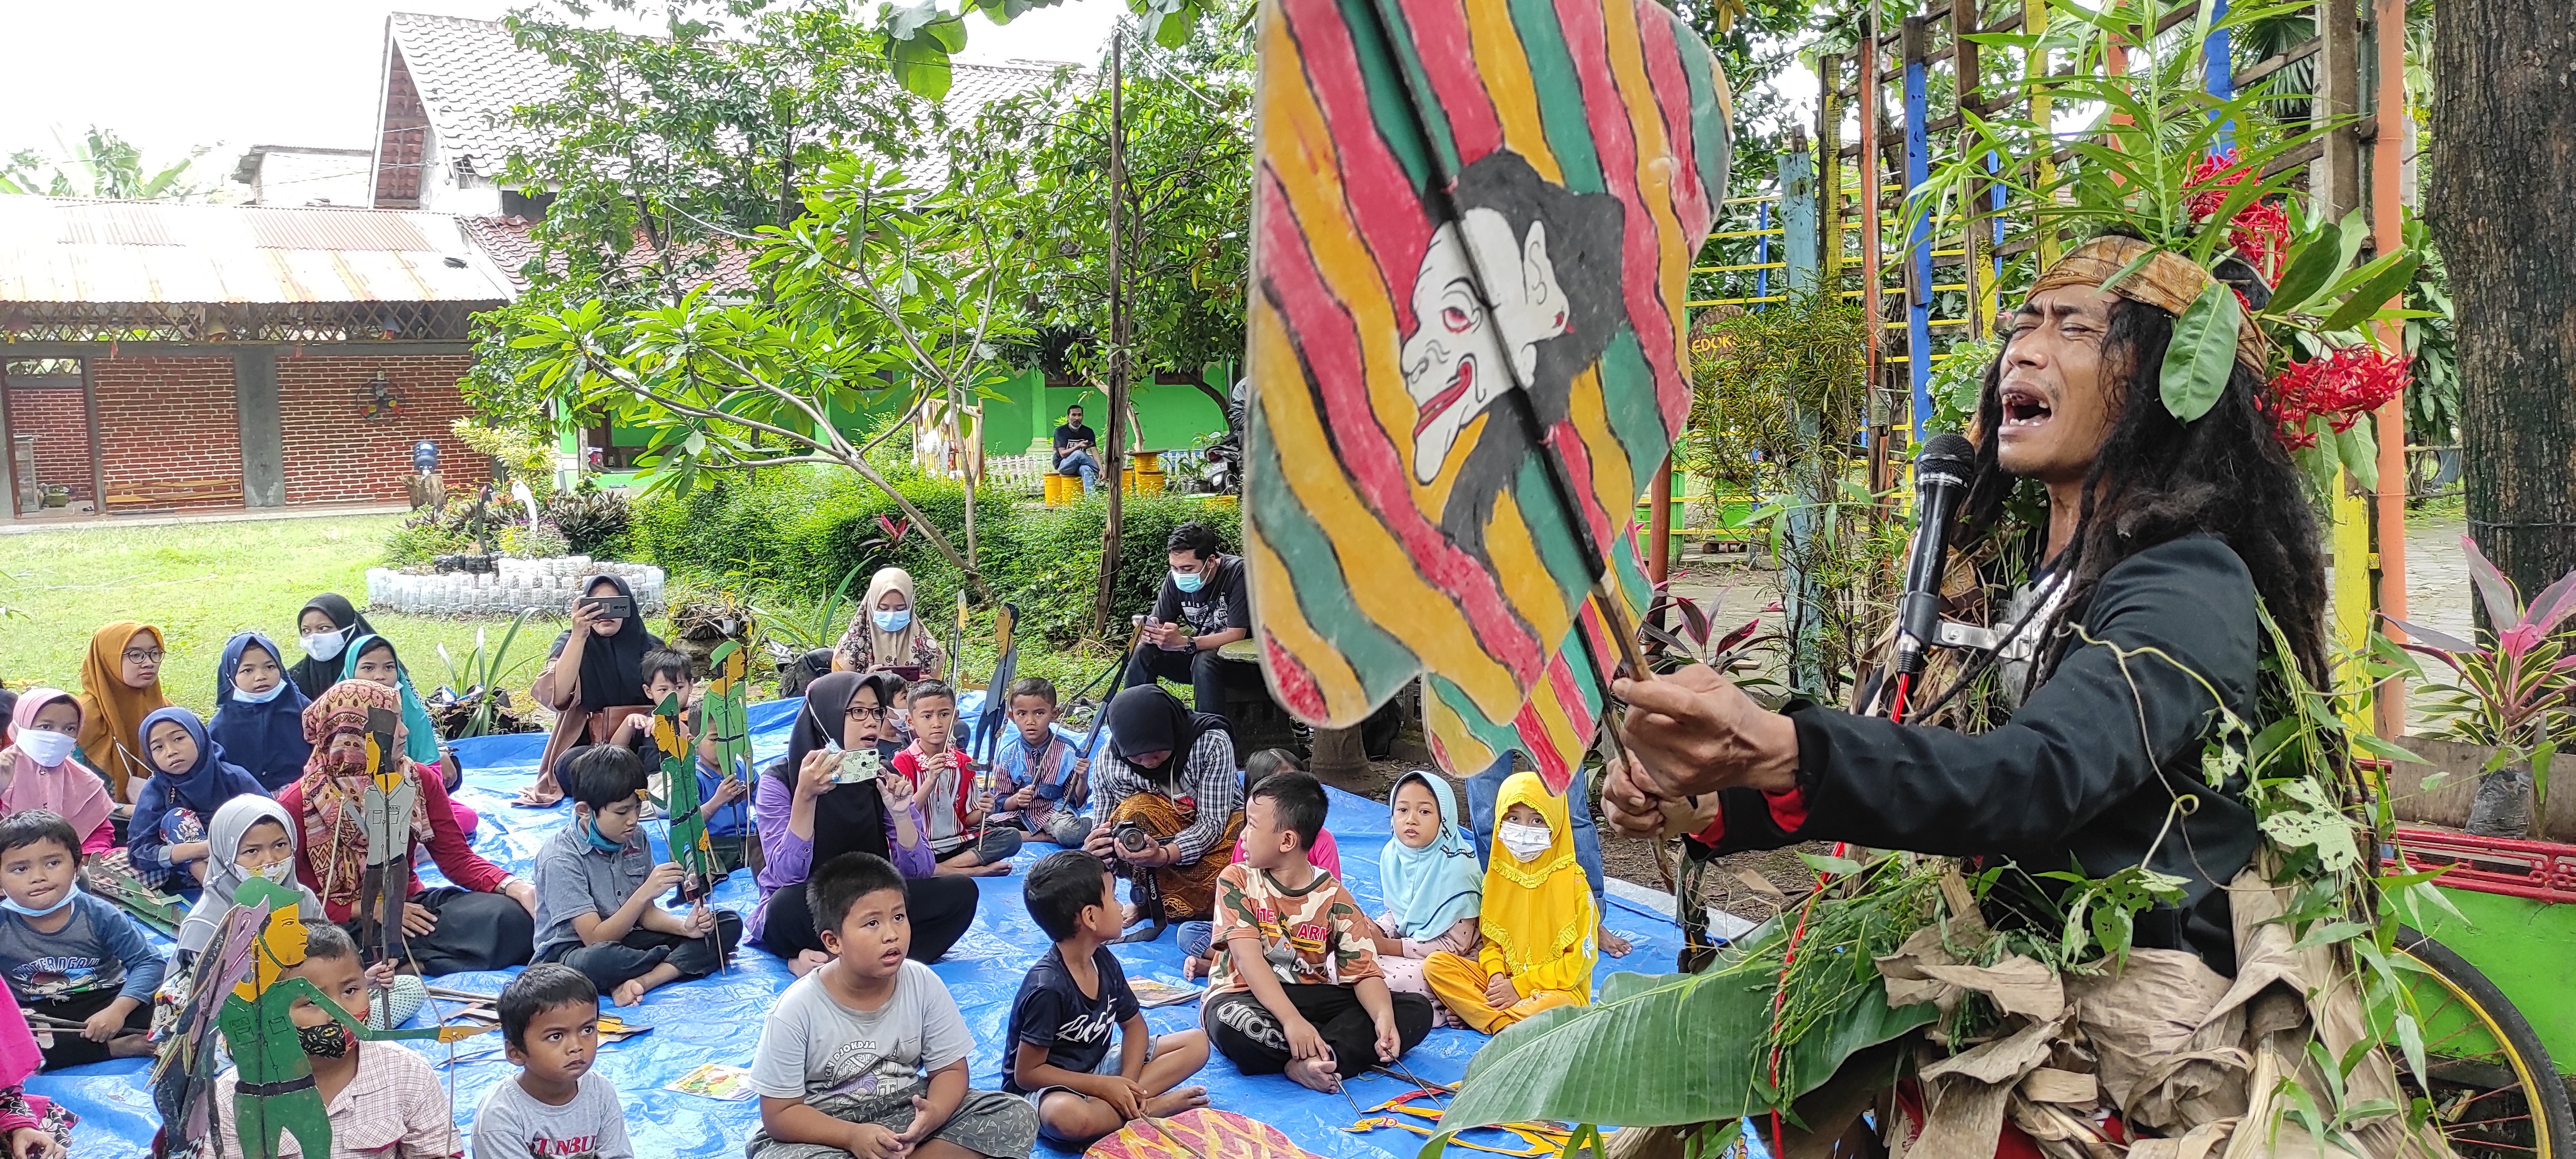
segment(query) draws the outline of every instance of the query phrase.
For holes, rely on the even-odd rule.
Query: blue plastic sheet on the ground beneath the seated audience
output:
[[[958,703],[963,719],[974,719],[981,693],[966,693]],[[752,749],[768,762],[786,752],[786,729],[801,701],[773,701],[752,706]],[[1082,737],[1074,737],[1077,742]],[[536,847],[572,819],[572,806],[513,809],[510,798],[536,778],[536,760],[546,747],[544,734],[482,737],[456,742],[456,755],[466,768],[466,786],[459,798],[482,814],[474,850],[495,863],[528,873]],[[1332,791],[1332,816],[1327,827],[1342,847],[1342,871],[1352,894],[1376,909],[1378,904],[1378,847],[1388,840],[1386,804]],[[654,842],[659,847],[659,822]],[[1054,853],[1054,845],[1030,842],[1018,865],[1025,868]],[[438,881],[435,865],[422,858],[422,878]],[[976,1053],[971,1059],[974,1084],[999,1089],[1002,1035],[1010,1020],[1010,999],[1020,989],[1020,976],[1046,953],[1046,935],[1020,904],[1020,876],[981,878],[981,907],[966,938],[933,966],[948,992],[956,994],[966,1025],[974,1028]],[[744,914],[760,899],[750,871],[734,873],[716,889],[716,904]],[[1613,968],[1669,974],[1682,945],[1680,927],[1669,917],[1628,904],[1607,901],[1610,927],[1625,935],[1636,950],[1628,958],[1602,958],[1602,976]],[[1128,976],[1146,976],[1180,984],[1180,948],[1167,930],[1154,943],[1118,945],[1113,953],[1126,963]],[[451,974],[433,984],[497,994],[515,971]],[[626,1123],[641,1156],[739,1156],[742,1144],[760,1123],[757,1100],[721,1102],[698,1095],[662,1089],[698,1064],[750,1066],[760,1043],[760,1022],[770,1004],[793,981],[786,963],[744,945],[724,974],[662,986],[644,997],[639,1007],[616,1010],[636,1025],[652,1025],[647,1035],[605,1046],[598,1071],[616,1082],[626,1102]],[[422,1010],[415,1025],[428,1025],[435,1007]],[[1198,1025],[1198,1004],[1149,1010],[1146,1022],[1157,1033]],[[1432,1035],[1404,1056],[1404,1066],[1427,1082],[1458,1082],[1468,1059],[1484,1046],[1484,1035],[1471,1030],[1432,1030]],[[453,1046],[417,1046],[448,1079],[456,1126],[469,1131],[474,1107],[497,1082],[507,1082],[515,1069],[502,1059],[500,1035],[477,1035]],[[28,1079],[28,1089],[62,1100],[82,1123],[72,1136],[72,1154],[82,1159],[142,1156],[149,1151],[160,1118],[147,1089],[149,1061],[108,1061],[75,1066],[67,1071]],[[1358,1107],[1378,1105],[1404,1089],[1406,1082],[1365,1077],[1347,1084],[1350,1097],[1319,1095],[1278,1074],[1247,1077],[1224,1056],[1211,1056],[1193,1079],[1208,1087],[1208,1100],[1221,1110],[1278,1126],[1298,1146],[1334,1159],[1409,1159],[1422,1138],[1404,1131],[1347,1133],[1358,1120]],[[1468,1138],[1517,1146],[1502,1133],[1471,1133]],[[1038,1154],[1074,1154],[1051,1144],[1038,1144]]]

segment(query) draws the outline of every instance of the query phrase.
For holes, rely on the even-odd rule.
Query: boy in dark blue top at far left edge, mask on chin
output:
[[[80,773],[88,775],[88,773]],[[152,1053],[160,953],[124,909],[82,894],[80,837],[49,809],[0,819],[0,976],[54,1038],[44,1069]],[[75,1030],[77,1028],[77,1030]]]

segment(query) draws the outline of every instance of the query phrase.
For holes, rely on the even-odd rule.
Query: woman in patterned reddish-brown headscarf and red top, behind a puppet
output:
[[[366,791],[366,711],[399,706],[392,688],[371,680],[343,680],[304,708],[304,737],[314,755],[304,778],[278,791],[278,804],[301,827],[304,858],[296,876],[322,896],[332,922],[358,917],[358,878],[366,873],[366,819],[358,801]],[[402,731],[397,724],[397,744]],[[402,760],[394,755],[392,760]],[[526,966],[536,950],[536,886],[484,860],[466,842],[448,804],[448,788],[420,765],[402,760],[402,775],[420,786],[404,824],[415,858],[425,845],[430,860],[453,886],[428,889],[415,871],[402,889],[402,935],[420,974],[497,971]]]

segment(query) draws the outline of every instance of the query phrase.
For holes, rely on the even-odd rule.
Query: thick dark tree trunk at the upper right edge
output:
[[[2468,531],[2527,595],[2576,569],[2571,57],[2563,0],[2434,5],[2424,216],[2458,270]]]

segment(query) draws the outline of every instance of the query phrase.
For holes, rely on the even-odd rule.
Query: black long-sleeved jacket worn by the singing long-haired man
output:
[[[2215,737],[2210,693],[2136,649],[2161,649],[2200,672],[2228,711],[2259,731],[2254,577],[2226,541],[2177,538],[2102,574],[2079,623],[2102,644],[2069,641],[2048,683],[2009,724],[1986,734],[1795,708],[1806,819],[1783,829],[1762,793],[1726,791],[1726,837],[1713,847],[1692,842],[1692,853],[1713,858],[1839,840],[1981,858],[1989,868],[2009,860],[2025,873],[2081,865],[2092,878],[2146,860],[2187,886],[2179,907],[2138,914],[2133,945],[2192,950],[2233,976],[2236,943],[2221,886],[2254,858],[2244,775],[2215,788],[2202,778],[2202,747]],[[2110,644],[2130,657],[2123,662]],[[2197,796],[2197,811],[2177,816],[2159,842],[2179,796]],[[2056,896],[2063,886],[2025,873],[2007,871],[1989,894],[1996,919],[2027,919],[2043,912],[2030,904],[2035,891]],[[2043,922],[2053,927],[2056,919]]]

